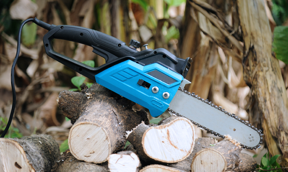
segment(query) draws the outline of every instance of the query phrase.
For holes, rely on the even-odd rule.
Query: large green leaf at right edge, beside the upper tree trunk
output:
[[[274,28],[274,41],[272,51],[275,52],[276,58],[288,64],[288,27],[277,26]]]

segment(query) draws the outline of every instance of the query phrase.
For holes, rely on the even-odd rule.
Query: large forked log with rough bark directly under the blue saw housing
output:
[[[94,83],[82,93],[63,91],[58,105],[73,124],[68,144],[78,160],[102,163],[112,153],[123,150],[126,131],[144,121],[144,110],[135,112],[135,103]]]

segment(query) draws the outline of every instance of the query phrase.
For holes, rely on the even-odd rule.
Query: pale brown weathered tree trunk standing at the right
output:
[[[271,156],[282,154],[288,166],[288,99],[278,60],[272,56],[272,33],[262,0],[237,0],[243,32],[244,79],[251,88],[248,107],[254,122],[261,121]],[[261,125],[261,127],[260,127]]]

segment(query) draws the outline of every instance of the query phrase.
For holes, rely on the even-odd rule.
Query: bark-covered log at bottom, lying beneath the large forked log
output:
[[[71,154],[70,150],[66,150],[55,162],[51,172],[108,172],[107,164],[93,164],[79,161]]]

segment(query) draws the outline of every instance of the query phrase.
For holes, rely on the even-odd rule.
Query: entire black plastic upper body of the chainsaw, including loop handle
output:
[[[35,23],[38,23],[39,25],[39,21],[40,20],[37,20]],[[48,25],[43,26],[48,28]],[[51,28],[51,26],[54,27]],[[162,66],[183,75],[184,78],[190,68],[190,58],[177,58],[164,48],[157,48],[155,50],[147,49],[139,52],[127,46],[125,42],[96,30],[70,25],[51,26],[49,26],[48,33],[43,37],[47,55],[94,81],[94,76],[96,74],[126,60],[132,60],[143,66],[159,63]],[[105,58],[106,63],[93,68],[57,53],[53,50],[53,39],[68,40],[91,46],[93,47],[94,53]]]

